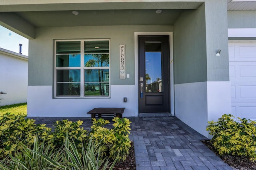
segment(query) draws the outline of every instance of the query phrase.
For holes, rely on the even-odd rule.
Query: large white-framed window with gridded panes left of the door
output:
[[[55,49],[55,97],[109,97],[109,40],[61,40]]]

